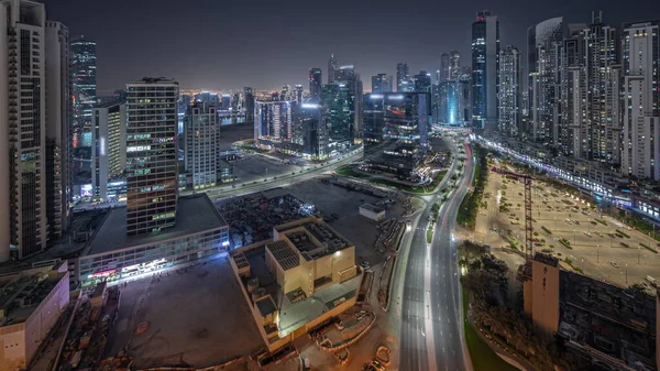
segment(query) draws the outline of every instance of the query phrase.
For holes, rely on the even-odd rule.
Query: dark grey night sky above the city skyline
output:
[[[597,0],[41,0],[50,20],[72,36],[97,41],[98,95],[142,76],[176,78],[183,88],[279,88],[304,84],[334,53],[371,86],[376,73],[414,75],[438,69],[440,54],[458,48],[470,65],[476,11],[498,15],[502,46],[525,51],[526,30],[548,18],[588,22],[660,19],[660,1]],[[433,75],[435,76],[435,75]],[[435,77],[433,77],[435,79]]]

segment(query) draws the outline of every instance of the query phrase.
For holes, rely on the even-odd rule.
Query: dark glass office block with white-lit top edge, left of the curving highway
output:
[[[428,92],[367,94],[364,100],[365,166],[410,178],[427,153]]]

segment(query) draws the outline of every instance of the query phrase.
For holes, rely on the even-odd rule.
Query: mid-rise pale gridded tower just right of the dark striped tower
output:
[[[186,173],[193,175],[193,188],[212,187],[218,181],[220,122],[216,106],[196,102],[188,106],[184,120]]]

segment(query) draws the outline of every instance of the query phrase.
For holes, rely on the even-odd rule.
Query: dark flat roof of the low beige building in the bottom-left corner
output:
[[[0,277],[0,326],[25,321],[66,275],[58,269],[31,269]]]

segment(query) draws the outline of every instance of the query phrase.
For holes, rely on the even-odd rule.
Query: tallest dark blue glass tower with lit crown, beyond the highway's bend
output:
[[[487,10],[476,13],[472,23],[472,124],[496,129],[499,70],[499,21]]]

